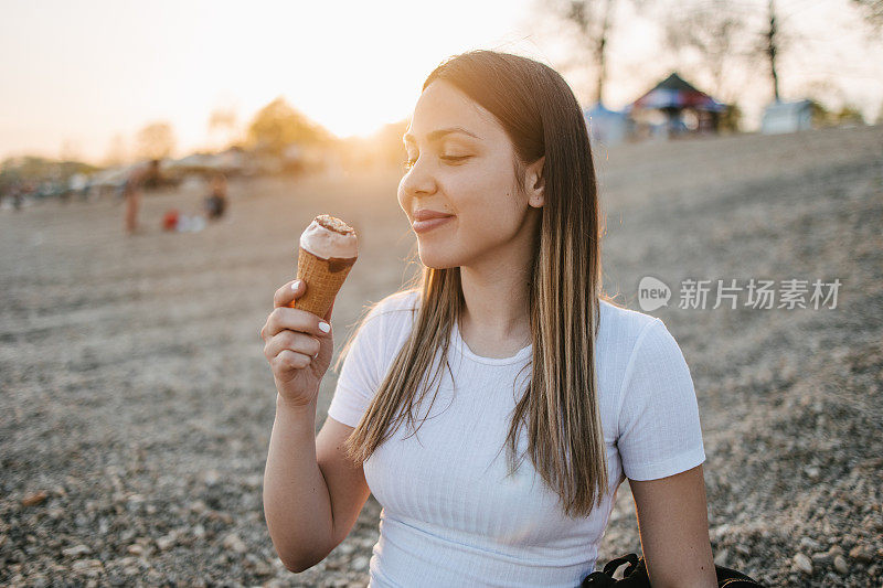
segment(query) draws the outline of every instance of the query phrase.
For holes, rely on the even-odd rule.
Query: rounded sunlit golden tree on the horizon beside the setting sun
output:
[[[325,145],[332,141],[332,136],[280,96],[254,116],[248,139],[258,150],[278,156],[289,145]]]

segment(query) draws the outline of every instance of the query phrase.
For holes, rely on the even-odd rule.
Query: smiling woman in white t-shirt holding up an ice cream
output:
[[[690,372],[661,320],[600,293],[571,88],[535,61],[465,53],[426,79],[404,141],[398,203],[425,267],[348,343],[315,442],[331,311],[285,308],[309,288],[286,285],[262,329],[278,392],[264,507],[281,560],[321,562],[373,492],[372,587],[575,587],[628,478],[653,587],[716,586]]]

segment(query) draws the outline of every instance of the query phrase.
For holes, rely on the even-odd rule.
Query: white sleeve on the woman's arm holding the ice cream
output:
[[[355,427],[381,384],[383,312],[375,306],[365,317],[340,368],[328,416]]]

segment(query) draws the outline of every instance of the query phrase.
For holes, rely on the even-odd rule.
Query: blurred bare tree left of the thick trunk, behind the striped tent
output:
[[[741,41],[747,29],[743,13],[736,10],[733,1],[693,0],[678,10],[666,10],[660,18],[666,45],[675,53],[691,50],[699,53],[701,67],[712,81],[712,93],[719,99],[732,99],[725,66],[746,55]]]

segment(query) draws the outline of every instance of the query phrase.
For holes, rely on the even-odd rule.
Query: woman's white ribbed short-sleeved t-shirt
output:
[[[331,418],[358,425],[411,331],[415,304],[418,291],[406,290],[372,309],[341,368]],[[602,506],[565,517],[526,453],[507,478],[513,386],[518,382],[520,397],[533,345],[511,357],[482,357],[455,323],[448,357],[454,379],[443,366],[435,402],[430,387],[417,406],[416,435],[405,420],[363,463],[383,507],[371,588],[574,588],[595,569],[626,478],[664,478],[705,460],[690,371],[663,322],[602,301],[598,329],[595,365],[610,482]],[[522,427],[517,456],[525,449]]]

